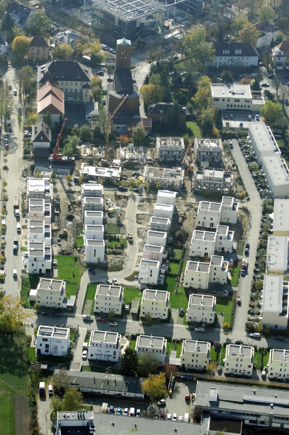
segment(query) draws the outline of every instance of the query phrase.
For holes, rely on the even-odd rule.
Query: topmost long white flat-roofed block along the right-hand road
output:
[[[250,123],[248,139],[258,164],[262,164],[263,157],[281,155],[272,130],[265,122]]]

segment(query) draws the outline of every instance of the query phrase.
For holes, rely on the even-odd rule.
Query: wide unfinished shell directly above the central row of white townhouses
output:
[[[182,168],[161,168],[145,165],[143,169],[143,184],[161,184],[161,188],[181,189],[184,184],[185,171]]]

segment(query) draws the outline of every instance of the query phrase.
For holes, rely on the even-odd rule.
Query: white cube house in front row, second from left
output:
[[[90,360],[117,362],[121,335],[112,331],[91,331],[87,357]]]

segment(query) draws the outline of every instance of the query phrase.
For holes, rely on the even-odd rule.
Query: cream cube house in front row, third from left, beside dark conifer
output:
[[[166,338],[138,335],[135,350],[139,356],[152,354],[159,361],[159,365],[163,365],[166,358]]]

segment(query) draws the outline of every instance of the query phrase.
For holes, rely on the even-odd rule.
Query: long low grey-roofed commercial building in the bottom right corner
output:
[[[288,391],[197,381],[195,409],[246,425],[289,428]]]

